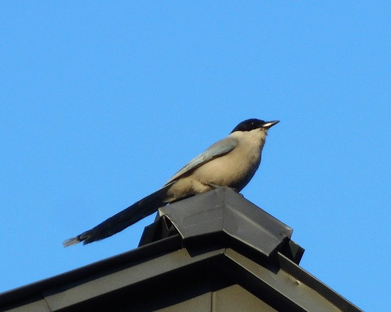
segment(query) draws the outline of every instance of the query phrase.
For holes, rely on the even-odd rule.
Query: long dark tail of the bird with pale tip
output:
[[[173,183],[165,185],[160,190],[157,190],[142,200],[135,202],[128,208],[125,208],[90,230],[76,237],[65,240],[63,242],[64,247],[75,245],[80,242],[83,242],[83,245],[86,245],[95,241],[103,240],[104,238],[118,233],[133,223],[151,215],[157,211],[159,207],[166,204],[164,200],[166,198],[167,190],[172,184]]]

